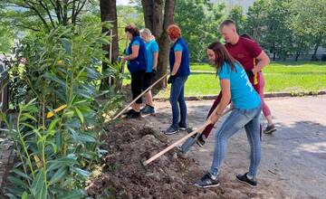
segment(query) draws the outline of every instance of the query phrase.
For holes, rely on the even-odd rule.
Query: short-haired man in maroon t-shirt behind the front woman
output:
[[[268,121],[268,125],[264,130],[264,133],[273,133],[276,128],[273,125],[271,111],[264,103],[264,83],[257,81],[263,80],[261,71],[264,66],[270,62],[269,57],[262,50],[259,44],[254,42],[254,40],[240,37],[238,33],[236,33],[235,23],[232,20],[225,20],[220,25],[220,33],[225,39],[225,48],[235,58],[235,60],[243,65],[249,80],[254,86],[254,89],[258,92],[258,94],[260,94],[262,100],[262,109],[264,110],[265,118]],[[264,80],[262,82],[264,82]],[[217,99],[214,101],[214,104],[210,109],[207,118],[210,116],[211,112],[216,109],[216,106],[218,105],[221,98],[222,93],[220,92]],[[207,126],[202,135],[198,137],[197,144],[199,146],[202,147],[205,144],[205,139],[208,137],[213,127],[213,125]]]

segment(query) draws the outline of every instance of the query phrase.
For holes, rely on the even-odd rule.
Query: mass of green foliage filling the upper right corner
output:
[[[245,32],[264,49],[285,60],[288,54],[308,52],[325,38],[326,1],[258,0],[249,7]]]

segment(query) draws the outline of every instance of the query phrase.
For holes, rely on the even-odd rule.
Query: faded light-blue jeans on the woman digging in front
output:
[[[215,150],[210,174],[217,176],[220,166],[225,158],[226,145],[228,138],[235,135],[236,132],[245,127],[246,136],[250,144],[250,176],[257,175],[257,168],[261,159],[261,140],[259,132],[259,116],[261,107],[256,109],[233,109],[228,118],[222,124],[222,127],[216,131]]]

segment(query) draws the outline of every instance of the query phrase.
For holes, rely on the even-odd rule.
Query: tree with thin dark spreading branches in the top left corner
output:
[[[92,0],[0,0],[0,18],[11,25],[34,31],[50,31],[59,24],[77,24]]]

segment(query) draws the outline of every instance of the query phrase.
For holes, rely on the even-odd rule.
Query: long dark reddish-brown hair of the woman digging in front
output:
[[[212,50],[216,55],[216,61],[215,61],[215,67],[216,67],[216,73],[218,73],[218,70],[220,70],[224,64],[224,62],[227,63],[228,66],[230,66],[231,71],[236,71],[235,69],[235,58],[233,58],[229,52],[225,49],[225,46],[222,43],[216,42],[211,43],[208,45],[207,49]]]

